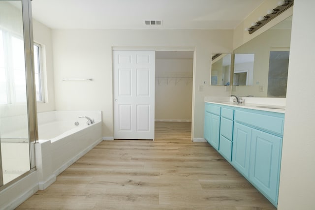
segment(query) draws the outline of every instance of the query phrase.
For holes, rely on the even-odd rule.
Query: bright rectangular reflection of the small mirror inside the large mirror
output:
[[[234,86],[252,85],[254,58],[254,54],[234,55]]]

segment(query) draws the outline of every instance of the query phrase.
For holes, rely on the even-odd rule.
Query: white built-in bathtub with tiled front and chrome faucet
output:
[[[87,116],[95,120],[87,125]],[[53,111],[38,113],[35,164],[39,189],[47,188],[67,167],[102,141],[101,112]],[[79,125],[75,125],[79,122]]]

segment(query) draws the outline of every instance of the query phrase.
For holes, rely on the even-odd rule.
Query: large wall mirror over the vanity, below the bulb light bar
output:
[[[232,94],[286,97],[292,16],[234,50]]]

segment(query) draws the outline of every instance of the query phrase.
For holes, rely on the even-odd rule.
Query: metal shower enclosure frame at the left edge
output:
[[[16,1],[16,0],[8,0]],[[36,92],[34,77],[34,50],[33,50],[33,30],[32,30],[32,1],[20,0],[22,3],[23,18],[23,37],[24,37],[24,55],[25,55],[25,71],[26,71],[26,95],[28,110],[28,129],[29,129],[29,150],[30,150],[30,170],[18,178],[11,180],[3,185],[2,160],[0,150],[0,191],[8,187],[12,183],[21,180],[35,170],[34,144],[38,141],[37,128],[37,108],[36,108]],[[1,146],[0,146],[1,149]]]

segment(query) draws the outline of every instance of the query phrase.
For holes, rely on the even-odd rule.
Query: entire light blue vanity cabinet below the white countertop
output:
[[[206,103],[207,141],[275,206],[283,130],[284,113]]]

